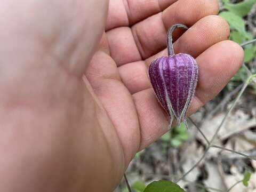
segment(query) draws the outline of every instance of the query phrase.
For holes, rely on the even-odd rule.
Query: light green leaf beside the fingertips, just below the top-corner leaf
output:
[[[246,39],[252,38],[251,35],[245,31],[245,22],[241,17],[229,11],[223,11],[219,15],[229,23],[230,29],[235,29]]]

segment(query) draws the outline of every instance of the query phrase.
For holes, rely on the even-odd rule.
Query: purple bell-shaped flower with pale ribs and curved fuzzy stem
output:
[[[187,126],[187,110],[195,94],[198,79],[195,59],[189,54],[173,53],[172,33],[177,27],[187,29],[180,24],[170,28],[167,35],[169,56],[158,58],[149,66],[149,77],[154,92],[170,118],[169,129],[174,117],[178,126],[181,121]]]

